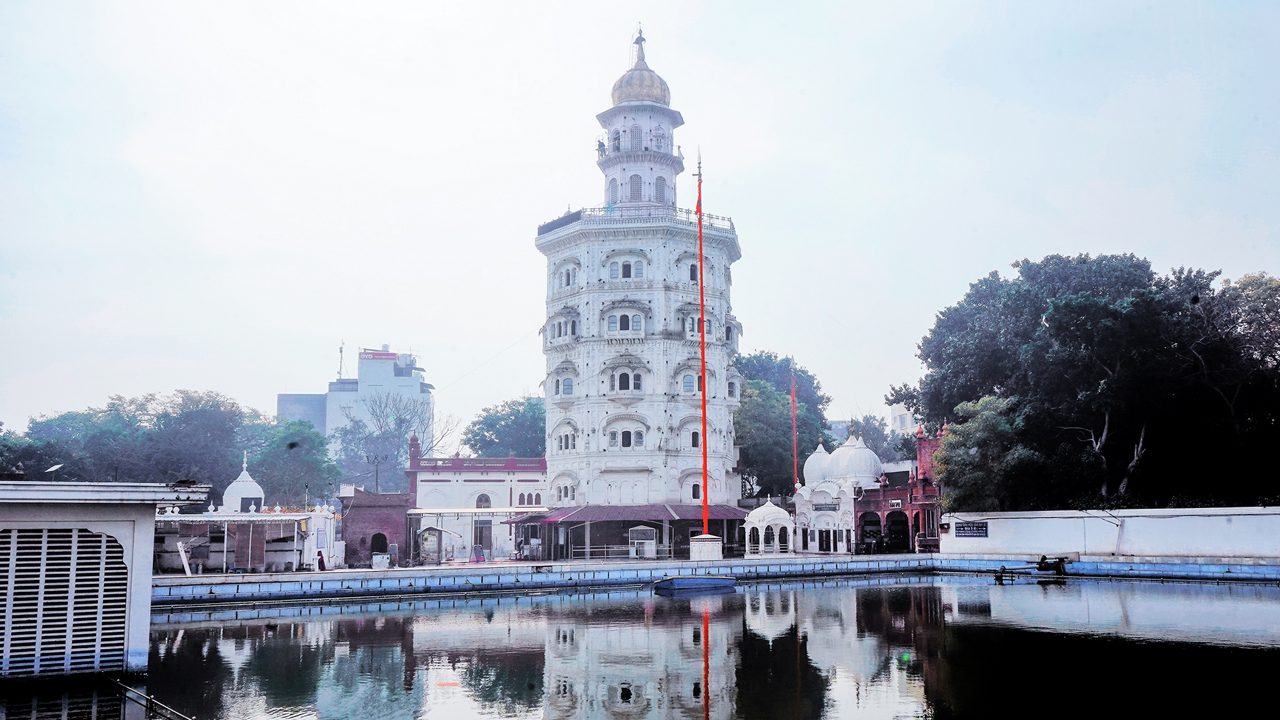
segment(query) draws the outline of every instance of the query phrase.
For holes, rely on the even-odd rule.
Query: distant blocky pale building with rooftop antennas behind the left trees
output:
[[[431,443],[433,386],[422,380],[422,368],[417,357],[407,352],[364,348],[358,355],[355,378],[338,378],[329,383],[323,395],[283,393],[275,396],[275,414],[282,420],[307,420],[325,437],[346,427],[351,419],[362,420],[375,429],[370,406],[376,407],[388,396],[401,402],[412,402],[424,420],[411,428],[424,441]]]

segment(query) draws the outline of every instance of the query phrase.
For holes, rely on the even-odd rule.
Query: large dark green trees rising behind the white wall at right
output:
[[[932,427],[952,420],[954,433],[980,420],[979,439],[1001,460],[975,466],[947,454],[940,479],[966,488],[951,493],[956,507],[1117,495],[1123,505],[1252,503],[1275,493],[1263,487],[1274,473],[1262,448],[1280,442],[1280,282],[1254,274],[1217,290],[1217,273],[1157,275],[1133,255],[1014,268],[938,314],[920,343],[925,377],[887,397]],[[988,396],[1012,405],[982,405]],[[1224,457],[1248,482],[1210,487]],[[968,489],[973,468],[995,473],[984,487],[1000,497]]]

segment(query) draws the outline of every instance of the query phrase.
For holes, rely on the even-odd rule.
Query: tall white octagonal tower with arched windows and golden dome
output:
[[[730,264],[741,256],[728,218],[704,217],[707,433],[700,437],[698,225],[676,206],[684,159],[671,91],[645,63],[613,85],[596,115],[603,208],[538,228],[547,256],[547,475],[552,506],[701,502],[741,496],[732,414],[742,379],[731,365],[741,325]]]

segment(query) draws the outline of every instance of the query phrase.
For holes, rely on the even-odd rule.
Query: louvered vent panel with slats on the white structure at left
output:
[[[0,530],[0,676],[124,669],[124,548],[84,529]]]

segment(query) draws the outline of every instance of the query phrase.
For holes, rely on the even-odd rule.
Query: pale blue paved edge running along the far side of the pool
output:
[[[873,555],[760,557],[719,561],[511,562],[270,575],[157,575],[151,605],[319,600],[547,591],[636,585],[668,575],[733,575],[740,580],[888,573],[995,573],[1025,568],[1029,555]],[[1275,557],[1117,557],[1070,555],[1069,577],[1280,583]]]

